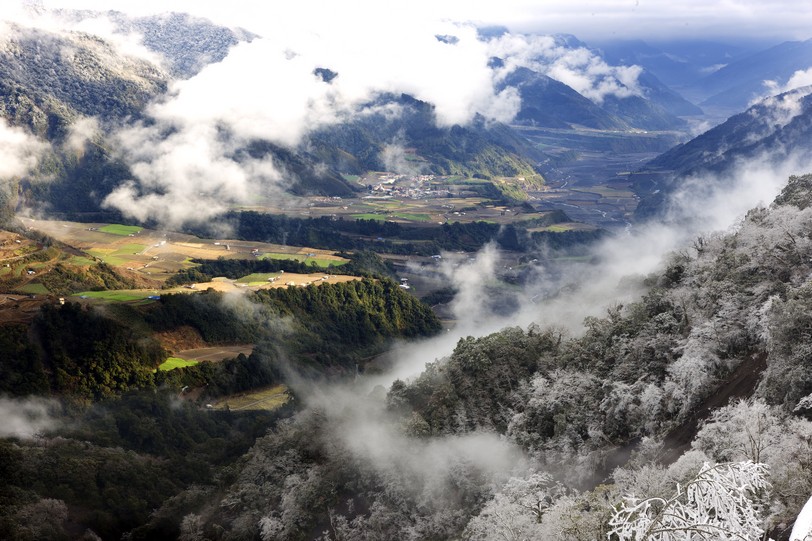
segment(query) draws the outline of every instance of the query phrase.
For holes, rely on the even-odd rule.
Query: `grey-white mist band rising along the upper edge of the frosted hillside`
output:
[[[776,164],[772,155],[765,154],[741,160],[724,174],[683,179],[665,220],[637,225],[607,239],[594,248],[590,262],[572,262],[558,272],[540,266],[536,279],[514,292],[519,307],[508,316],[487,309],[493,292],[484,286],[497,280],[500,268],[495,247],[486,247],[473,260],[445,263],[449,283],[459,290],[451,304],[455,326],[436,338],[397,348],[394,368],[370,378],[370,385],[388,386],[396,379],[416,377],[426,363],[450,355],[466,336],[531,324],[580,334],[587,316],[601,317],[611,306],[639,299],[645,292],[644,278],[661,269],[669,253],[690,249],[703,234],[735,230],[748,210],[769,205],[790,175],[806,172],[812,172],[809,156],[790,155]]]

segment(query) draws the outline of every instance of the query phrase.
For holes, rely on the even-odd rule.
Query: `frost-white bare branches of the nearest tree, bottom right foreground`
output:
[[[764,534],[755,497],[768,488],[767,467],[751,461],[705,463],[670,498],[628,496],[609,525],[619,541],[754,541]],[[616,537],[613,537],[616,536]]]

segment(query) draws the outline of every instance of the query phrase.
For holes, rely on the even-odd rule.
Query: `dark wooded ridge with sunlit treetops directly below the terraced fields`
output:
[[[208,344],[258,344],[220,364],[156,372],[168,356],[155,332],[191,327]],[[310,375],[355,370],[396,337],[429,336],[431,309],[390,280],[259,291],[162,295],[142,309],[46,304],[26,325],[0,326],[0,393],[100,400],[165,384],[207,386],[211,396],[282,380],[282,363]],[[281,352],[284,352],[282,355]]]

